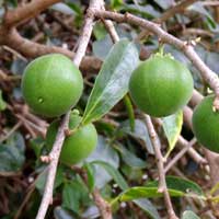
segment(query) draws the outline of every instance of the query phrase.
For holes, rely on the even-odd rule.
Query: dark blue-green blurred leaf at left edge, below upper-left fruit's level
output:
[[[23,136],[14,132],[5,143],[0,143],[0,172],[18,172],[25,161]]]

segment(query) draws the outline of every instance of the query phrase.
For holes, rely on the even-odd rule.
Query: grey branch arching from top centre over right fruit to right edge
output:
[[[150,31],[151,33],[157,35],[159,37],[159,39],[162,41],[163,43],[171,44],[171,45],[175,46],[177,49],[182,50],[187,56],[187,58],[193,62],[193,65],[199,70],[203,79],[215,91],[216,99],[214,101],[214,107],[215,107],[215,110],[219,110],[219,79],[218,79],[218,76],[205,65],[205,62],[195,53],[192,45],[174,37],[171,34],[168,34],[158,24],[147,21],[147,20],[143,20],[143,19],[140,19],[140,18],[135,16],[129,13],[119,14],[116,12],[101,11],[101,10],[95,10],[94,13],[100,19],[111,19],[111,20],[114,20],[119,23],[126,22],[131,25],[142,26],[143,28],[147,28],[148,31]]]

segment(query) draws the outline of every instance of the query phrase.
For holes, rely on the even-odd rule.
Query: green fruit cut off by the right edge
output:
[[[193,131],[207,149],[219,153],[219,113],[212,111],[214,95],[205,97],[193,113]]]

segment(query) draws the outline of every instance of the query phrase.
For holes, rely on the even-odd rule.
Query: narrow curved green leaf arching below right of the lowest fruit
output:
[[[122,189],[128,188],[128,184],[126,183],[125,178],[113,165],[103,161],[94,161],[92,163],[99,164],[104,168]]]

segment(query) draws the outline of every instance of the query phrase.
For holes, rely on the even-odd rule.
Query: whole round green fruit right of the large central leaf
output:
[[[189,70],[170,56],[161,55],[141,62],[129,81],[134,103],[154,117],[174,114],[186,105],[193,87]]]

